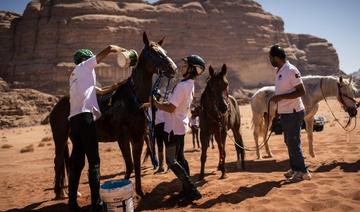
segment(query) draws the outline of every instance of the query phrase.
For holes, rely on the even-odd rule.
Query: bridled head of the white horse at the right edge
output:
[[[359,107],[359,103],[357,103],[354,98],[354,93],[357,89],[352,82],[352,78],[343,79],[343,77],[340,76],[337,84],[337,98],[339,102],[342,104],[344,110],[349,114],[350,117],[355,117],[357,115],[357,108]]]

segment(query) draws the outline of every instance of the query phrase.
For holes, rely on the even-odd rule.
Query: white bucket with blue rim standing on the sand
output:
[[[105,211],[134,211],[130,180],[110,180],[100,186],[100,196],[105,203]]]

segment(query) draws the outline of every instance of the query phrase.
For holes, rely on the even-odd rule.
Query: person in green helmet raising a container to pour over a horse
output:
[[[96,138],[95,120],[101,113],[96,99],[96,92],[106,93],[108,89],[95,87],[96,75],[94,67],[110,53],[124,49],[110,45],[99,54],[94,55],[88,49],[79,49],[74,54],[75,68],[71,72],[70,83],[70,132],[73,148],[70,157],[69,175],[69,208],[79,211],[77,190],[81,171],[85,164],[85,155],[89,163],[88,179],[91,191],[93,211],[101,211],[102,203],[99,196],[100,158]]]

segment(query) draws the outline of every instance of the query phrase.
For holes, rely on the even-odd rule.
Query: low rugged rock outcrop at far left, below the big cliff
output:
[[[33,89],[11,89],[0,78],[0,129],[40,124],[58,98]]]

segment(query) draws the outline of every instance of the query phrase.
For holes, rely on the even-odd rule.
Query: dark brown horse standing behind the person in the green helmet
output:
[[[102,116],[96,121],[99,142],[117,141],[125,159],[125,178],[129,179],[135,169],[136,193],[143,196],[141,189],[140,158],[146,131],[144,110],[140,105],[149,100],[154,73],[173,77],[176,65],[161,47],[163,40],[150,42],[143,34],[143,48],[139,62],[131,76],[115,92],[98,96]],[[161,71],[160,71],[161,70]],[[65,168],[69,167],[69,97],[62,98],[50,113],[50,125],[55,142],[55,187],[56,198],[64,197]],[[71,139],[71,138],[70,138]],[[130,150],[132,146],[132,156]],[[132,160],[133,158],[133,160]]]

